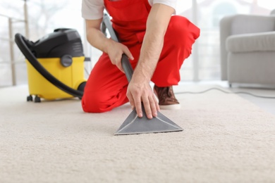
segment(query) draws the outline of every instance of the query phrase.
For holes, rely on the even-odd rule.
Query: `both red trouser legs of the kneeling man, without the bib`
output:
[[[200,30],[181,16],[172,16],[164,37],[164,48],[161,51],[159,63],[152,77],[152,82],[158,87],[176,85],[181,80],[181,65],[191,53],[195,39]],[[140,55],[138,44],[130,49],[135,61],[131,62],[135,68]],[[123,72],[112,65],[105,53],[90,74],[82,97],[82,108],[87,113],[102,113],[128,102],[128,81]]]

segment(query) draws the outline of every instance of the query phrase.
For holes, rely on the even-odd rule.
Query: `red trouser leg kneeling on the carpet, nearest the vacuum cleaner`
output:
[[[138,62],[141,44],[130,48],[135,68]],[[97,61],[87,80],[82,96],[82,108],[87,113],[102,113],[127,103],[126,96],[128,80],[126,75],[113,65],[109,56],[104,53]]]

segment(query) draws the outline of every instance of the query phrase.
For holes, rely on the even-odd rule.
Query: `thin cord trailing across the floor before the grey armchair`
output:
[[[256,94],[251,94],[249,92],[227,92],[223,89],[219,89],[219,88],[216,88],[216,87],[206,89],[202,92],[175,92],[175,94],[204,94],[204,93],[209,92],[211,90],[218,90],[218,91],[223,92],[225,94],[247,94],[247,95],[251,95],[251,96],[255,96],[255,97],[263,98],[263,99],[275,99],[275,96],[259,96],[259,95],[256,95]]]

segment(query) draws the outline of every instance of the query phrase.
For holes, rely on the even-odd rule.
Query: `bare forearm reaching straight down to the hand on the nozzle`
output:
[[[147,30],[140,51],[140,59],[133,74],[133,80],[149,82],[159,61],[164,46],[164,35],[169,25],[173,8],[154,4],[147,19]]]

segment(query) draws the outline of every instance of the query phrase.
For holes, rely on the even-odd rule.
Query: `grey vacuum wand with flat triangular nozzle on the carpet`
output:
[[[118,42],[116,37],[116,32],[114,32],[113,27],[111,26],[111,20],[109,15],[104,13],[103,17],[103,26],[104,29],[108,29],[111,35],[111,39]],[[128,57],[123,54],[121,59],[121,64],[128,82],[130,82],[133,75],[133,68],[130,65]],[[147,118],[145,113],[145,108],[142,103],[142,118],[138,117],[135,109],[128,115],[128,118],[123,122],[121,127],[118,128],[115,135],[118,134],[145,134],[145,133],[158,133],[158,132],[178,132],[183,131],[181,127],[176,125],[173,121],[166,118],[163,114],[157,112],[157,117],[152,118],[151,120]]]

